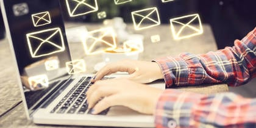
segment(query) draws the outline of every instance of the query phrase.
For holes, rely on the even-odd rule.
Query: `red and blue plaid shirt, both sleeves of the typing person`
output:
[[[256,28],[235,46],[207,54],[154,60],[166,88],[227,83],[236,87],[256,77]],[[256,98],[233,93],[197,94],[167,89],[155,111],[156,127],[256,127]]]

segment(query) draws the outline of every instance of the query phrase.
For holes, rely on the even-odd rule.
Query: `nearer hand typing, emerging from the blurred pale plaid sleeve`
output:
[[[127,79],[98,80],[87,91],[89,108],[98,114],[108,107],[123,105],[152,115],[163,90]]]

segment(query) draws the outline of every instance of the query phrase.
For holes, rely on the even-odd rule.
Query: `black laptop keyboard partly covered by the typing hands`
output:
[[[88,110],[87,90],[91,87],[91,77],[82,77],[76,85],[62,98],[62,100],[51,110],[51,113],[87,114]],[[107,115],[109,108],[99,113]]]

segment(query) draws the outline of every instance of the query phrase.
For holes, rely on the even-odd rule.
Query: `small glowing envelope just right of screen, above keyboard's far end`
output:
[[[74,60],[72,62],[66,62],[66,70],[68,74],[77,74],[86,71],[86,65],[84,60]]]

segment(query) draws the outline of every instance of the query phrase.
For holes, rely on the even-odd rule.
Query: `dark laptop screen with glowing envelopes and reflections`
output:
[[[4,0],[5,14],[29,112],[68,74],[71,61],[59,1]],[[6,20],[5,20],[6,22]]]

